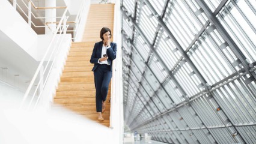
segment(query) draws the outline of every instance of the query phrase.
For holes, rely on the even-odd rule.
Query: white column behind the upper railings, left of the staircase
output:
[[[56,0],[45,0],[45,7],[56,7]],[[56,22],[56,8],[45,10],[45,22]],[[56,23],[48,24],[49,28],[45,28],[45,34],[51,34],[56,29]]]

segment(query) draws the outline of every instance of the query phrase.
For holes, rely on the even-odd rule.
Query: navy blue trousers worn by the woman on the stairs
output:
[[[102,112],[102,101],[106,101],[108,86],[112,77],[111,66],[102,64],[94,70],[94,83],[96,88],[96,110]]]

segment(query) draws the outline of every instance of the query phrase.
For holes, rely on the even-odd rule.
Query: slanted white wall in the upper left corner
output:
[[[8,1],[0,1],[0,31],[11,38],[33,58],[37,56],[37,34],[28,23],[17,13]]]

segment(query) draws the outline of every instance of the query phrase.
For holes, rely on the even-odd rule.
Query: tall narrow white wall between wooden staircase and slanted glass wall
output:
[[[121,11],[120,1],[115,2],[113,40],[117,43],[117,58],[113,62],[113,77],[111,81],[111,127],[114,143],[123,143],[123,74],[121,50]]]

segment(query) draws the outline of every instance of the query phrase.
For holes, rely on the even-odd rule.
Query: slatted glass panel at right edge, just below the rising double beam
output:
[[[233,124],[256,122],[256,99],[242,80],[221,86],[213,91],[213,95]]]

